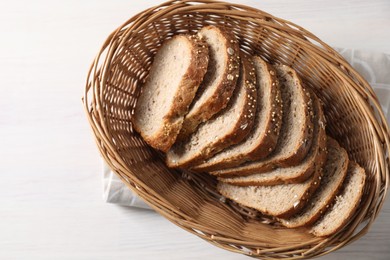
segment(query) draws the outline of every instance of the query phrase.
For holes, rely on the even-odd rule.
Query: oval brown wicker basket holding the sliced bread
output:
[[[292,66],[324,102],[328,134],[367,171],[361,206],[337,234],[317,238],[224,200],[207,174],[168,169],[133,131],[131,117],[161,43],[207,24],[232,31],[243,51]],[[113,32],[88,74],[85,109],[102,156],[161,215],[208,242],[263,259],[304,259],[367,233],[389,185],[389,129],[372,88],[313,34],[257,9],[217,1],[170,1]]]

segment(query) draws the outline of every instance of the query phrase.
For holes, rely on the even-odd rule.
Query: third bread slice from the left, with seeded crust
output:
[[[253,63],[243,59],[239,84],[228,106],[185,141],[176,142],[166,155],[167,165],[190,167],[242,141],[252,129],[256,113],[255,81]]]

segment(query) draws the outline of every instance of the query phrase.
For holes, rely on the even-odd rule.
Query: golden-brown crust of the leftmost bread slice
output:
[[[142,117],[143,115],[141,111],[137,109],[139,108],[138,102],[132,120],[134,129],[140,133],[143,139],[153,148],[163,152],[167,152],[176,141],[182,127],[184,116],[206,74],[209,61],[207,44],[196,35],[176,35],[168,41],[173,40],[187,41],[191,48],[191,64],[183,75],[174,97],[174,100],[181,100],[181,102],[172,103],[170,111],[164,115],[162,119],[159,131],[154,135],[146,134],[143,126],[139,123],[139,117]],[[153,73],[153,70],[157,69],[158,68],[153,68],[152,65],[150,73]],[[144,86],[147,84],[148,82]],[[138,100],[140,100],[140,102],[147,102],[143,100],[142,93]]]

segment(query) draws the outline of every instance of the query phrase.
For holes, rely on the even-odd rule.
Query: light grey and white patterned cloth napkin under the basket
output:
[[[336,50],[370,83],[378,96],[387,122],[390,122],[390,54],[342,48]],[[150,209],[105,163],[103,198],[109,203]]]

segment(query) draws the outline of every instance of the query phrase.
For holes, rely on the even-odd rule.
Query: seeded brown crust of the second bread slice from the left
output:
[[[207,121],[219,111],[224,109],[229,103],[230,97],[237,85],[240,70],[240,48],[237,40],[231,33],[224,31],[219,27],[206,26],[203,27],[202,30],[215,30],[220,34],[220,39],[224,41],[224,45],[226,46],[226,55],[228,58],[224,67],[227,69],[224,71],[222,75],[223,80],[217,86],[214,94],[210,96],[204,104],[198,107],[196,111],[190,111],[187,114],[177,138],[178,140],[184,140],[191,133],[195,132],[199,124]],[[208,75],[209,73],[206,73],[205,77]],[[199,89],[201,90],[201,88],[202,85]]]

